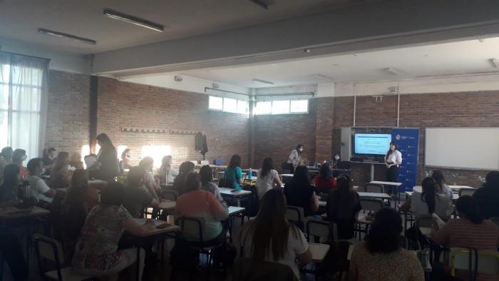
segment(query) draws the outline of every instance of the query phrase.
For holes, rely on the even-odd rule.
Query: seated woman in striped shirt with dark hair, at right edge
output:
[[[476,201],[468,195],[456,202],[458,219],[449,220],[442,229],[433,223],[431,239],[448,247],[475,248],[497,251],[499,248],[499,228],[490,220],[483,220]],[[456,277],[469,280],[467,272],[457,272]],[[499,280],[499,275],[478,274],[476,280]]]

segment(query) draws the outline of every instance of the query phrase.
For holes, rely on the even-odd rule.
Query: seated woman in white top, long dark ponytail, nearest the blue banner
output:
[[[406,201],[400,210],[411,210],[416,217],[436,213],[448,219],[453,212],[452,201],[446,195],[436,193],[437,183],[433,178],[425,178],[421,185],[423,192],[414,191],[411,200]]]

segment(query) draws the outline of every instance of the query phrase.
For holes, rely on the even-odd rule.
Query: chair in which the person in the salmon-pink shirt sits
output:
[[[205,246],[205,241],[202,238],[203,231],[205,229],[205,219],[197,217],[180,217],[175,219],[175,225],[180,227],[181,233],[178,235],[178,242],[183,243],[192,250],[196,250],[200,254],[206,255],[207,257],[207,280],[210,280],[210,268],[212,263],[212,251],[215,247],[222,245]],[[199,241],[188,241],[185,240],[182,235],[184,233],[196,233],[199,237]],[[177,242],[175,242],[175,245]],[[175,278],[175,267],[172,269],[173,279]]]

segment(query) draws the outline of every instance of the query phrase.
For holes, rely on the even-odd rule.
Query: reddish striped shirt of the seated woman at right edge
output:
[[[497,251],[499,247],[499,228],[490,220],[475,224],[470,220],[449,220],[446,225],[431,236],[438,244],[451,247],[473,247],[477,250]],[[465,272],[456,272],[458,277],[468,280]],[[478,274],[478,280],[499,280],[495,275]]]

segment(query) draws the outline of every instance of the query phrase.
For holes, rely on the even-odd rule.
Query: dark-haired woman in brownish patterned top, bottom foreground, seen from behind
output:
[[[416,255],[400,246],[402,219],[391,208],[379,210],[364,242],[355,245],[350,259],[351,281],[423,281]]]

